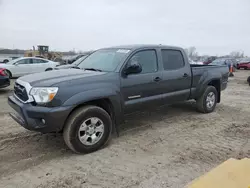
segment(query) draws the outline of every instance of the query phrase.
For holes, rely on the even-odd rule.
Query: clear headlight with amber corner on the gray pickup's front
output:
[[[57,87],[33,87],[30,95],[37,103],[48,103],[54,99],[57,91]]]

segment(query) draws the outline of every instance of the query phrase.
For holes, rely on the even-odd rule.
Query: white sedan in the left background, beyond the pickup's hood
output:
[[[59,62],[50,61],[37,57],[21,57],[5,64],[0,64],[0,68],[5,68],[9,77],[20,77],[27,74],[53,70]]]

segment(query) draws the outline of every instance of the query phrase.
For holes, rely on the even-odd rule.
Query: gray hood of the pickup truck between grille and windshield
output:
[[[31,86],[47,87],[60,82],[66,82],[84,77],[100,76],[106,72],[85,71],[81,69],[61,69],[42,73],[29,74],[20,77],[19,80],[28,82]]]

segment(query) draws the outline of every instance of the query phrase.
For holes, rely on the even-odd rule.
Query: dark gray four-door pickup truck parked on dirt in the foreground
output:
[[[228,67],[190,65],[182,48],[131,45],[104,48],[77,67],[16,80],[11,117],[29,130],[63,132],[76,153],[103,147],[124,115],[194,99],[210,113],[227,87]]]

